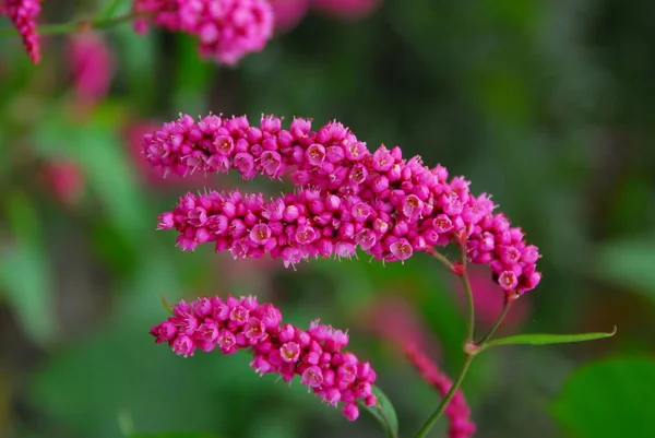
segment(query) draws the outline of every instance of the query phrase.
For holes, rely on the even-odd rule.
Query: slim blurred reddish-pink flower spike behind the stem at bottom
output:
[[[434,363],[415,344],[406,343],[403,347],[405,354],[424,379],[437,388],[441,396],[445,396],[453,386],[452,380],[439,371]],[[475,434],[475,424],[471,421],[471,409],[466,404],[461,390],[455,392],[455,395],[445,407],[444,414],[450,419],[449,438],[468,438]]]

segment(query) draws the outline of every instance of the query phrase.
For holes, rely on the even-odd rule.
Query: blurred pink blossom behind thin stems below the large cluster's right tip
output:
[[[493,281],[489,271],[479,267],[468,267],[468,280],[473,291],[475,318],[484,324],[491,324],[504,306],[505,294],[498,283]],[[460,279],[452,279],[452,291],[457,294],[457,304],[462,311],[466,311],[466,295]],[[520,327],[531,313],[529,298],[517,299],[503,319],[499,332],[512,332]]]

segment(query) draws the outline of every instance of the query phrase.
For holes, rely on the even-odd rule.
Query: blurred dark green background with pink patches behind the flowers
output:
[[[40,22],[108,2],[45,1]],[[402,436],[439,403],[389,342],[390,332],[418,336],[445,372],[458,369],[462,294],[434,260],[290,271],[212,246],[182,253],[175,233],[155,232],[188,190],[242,186],[162,179],[139,155],[143,132],[180,111],[214,111],[337,119],[369,147],[397,144],[465,175],[544,254],[544,280],[505,334],[618,325],[609,340],[481,355],[464,383],[477,437],[654,437],[655,5],[272,2],[276,37],[236,68],[200,59],[191,37],[139,36],[129,24],[44,36],[36,67],[15,35],[2,39],[0,436],[382,436],[365,413],[348,423],[298,382],[258,377],[247,355],[182,359],[155,345],[147,331],[166,317],[162,296],[257,294],[290,322],[349,328]],[[484,330],[502,292],[488,271],[473,275]],[[431,436],[445,436],[441,423]]]

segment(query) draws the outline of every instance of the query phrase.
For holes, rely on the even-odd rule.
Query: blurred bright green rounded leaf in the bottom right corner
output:
[[[612,358],[577,369],[550,405],[579,438],[655,437],[655,360]]]

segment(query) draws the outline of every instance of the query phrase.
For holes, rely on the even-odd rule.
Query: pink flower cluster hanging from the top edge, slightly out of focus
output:
[[[153,13],[155,23],[169,31],[195,35],[202,56],[226,64],[262,50],[273,34],[266,0],[134,0],[133,9]],[[143,20],[134,25],[145,31]]]

